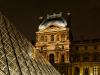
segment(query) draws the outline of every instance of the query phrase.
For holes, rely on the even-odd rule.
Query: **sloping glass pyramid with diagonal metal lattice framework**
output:
[[[60,75],[1,13],[0,75]]]

